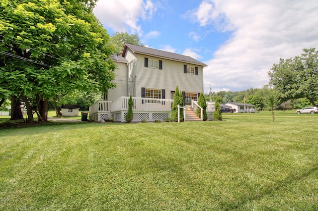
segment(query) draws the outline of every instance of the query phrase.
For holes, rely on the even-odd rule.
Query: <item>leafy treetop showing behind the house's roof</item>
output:
[[[125,43],[133,44],[137,46],[145,46],[141,43],[140,38],[137,34],[131,34],[129,35],[127,32],[116,32],[113,33],[110,38],[110,44],[115,49],[115,53],[121,54],[123,51],[123,46]]]

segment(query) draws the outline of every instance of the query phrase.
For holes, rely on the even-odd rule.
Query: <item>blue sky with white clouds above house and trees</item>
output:
[[[110,35],[208,64],[205,93],[261,88],[279,58],[318,48],[317,11],[318,0],[99,0],[94,9]]]

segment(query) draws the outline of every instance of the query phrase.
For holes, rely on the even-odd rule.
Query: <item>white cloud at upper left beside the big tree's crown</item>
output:
[[[105,28],[142,36],[138,21],[151,19],[156,8],[151,0],[99,0],[93,12]]]

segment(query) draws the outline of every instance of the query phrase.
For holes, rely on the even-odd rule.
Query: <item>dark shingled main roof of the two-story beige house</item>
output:
[[[142,46],[136,46],[132,44],[127,44],[125,43],[124,49],[122,52],[122,56],[125,56],[127,48],[131,49],[134,53],[140,53],[140,54],[145,54],[145,55],[153,55],[161,58],[166,58],[170,60],[177,60],[177,61],[183,61],[186,63],[191,63],[191,64],[197,64],[200,66],[208,66],[205,63],[198,61],[190,56],[186,55],[181,55],[177,53],[171,53],[171,52],[165,52],[157,49],[152,49],[152,48],[147,48],[147,47],[142,47]]]

